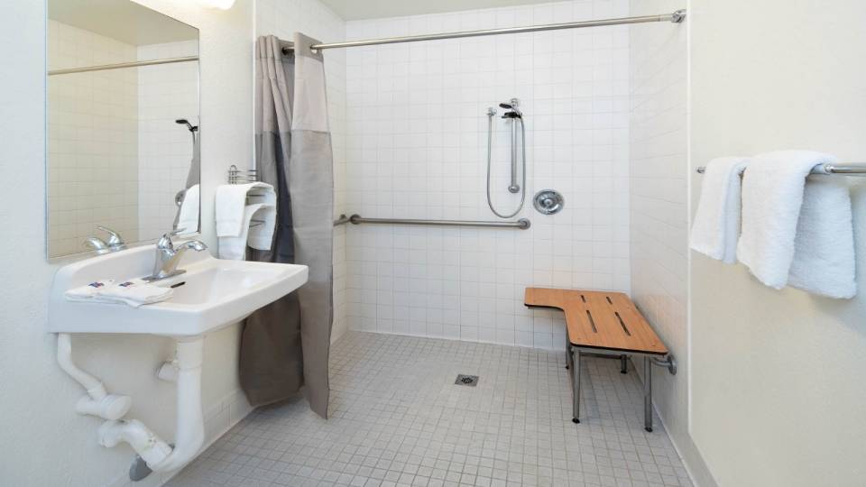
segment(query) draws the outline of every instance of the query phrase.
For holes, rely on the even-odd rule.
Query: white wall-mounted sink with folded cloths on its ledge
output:
[[[304,265],[224,261],[207,252],[190,251],[179,265],[185,273],[154,282],[174,288],[174,295],[166,301],[132,308],[125,304],[71,302],[63,297],[67,289],[94,280],[149,275],[154,253],[152,245],[147,245],[60,268],[51,287],[48,331],[203,335],[244,319],[307,282]]]

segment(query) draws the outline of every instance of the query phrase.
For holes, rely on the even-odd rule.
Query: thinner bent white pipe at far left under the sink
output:
[[[120,419],[133,406],[132,398],[109,394],[105,384],[88,372],[82,371],[72,362],[72,340],[68,333],[57,335],[57,363],[60,364],[63,372],[68,373],[88,391],[88,395],[78,400],[75,405],[78,414],[88,414],[103,419]]]

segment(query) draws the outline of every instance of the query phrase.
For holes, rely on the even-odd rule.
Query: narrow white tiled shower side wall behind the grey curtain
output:
[[[258,0],[257,36],[290,40],[303,32],[323,42],[345,40],[345,22],[318,0]],[[327,115],[334,149],[334,216],[345,213],[345,51],[325,51]],[[345,319],[345,226],[334,229],[334,326],[336,341],[348,329]]]

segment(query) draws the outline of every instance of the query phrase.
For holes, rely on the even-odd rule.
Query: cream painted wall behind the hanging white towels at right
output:
[[[859,0],[692,0],[693,168],[794,148],[866,161],[864,19]],[[692,253],[690,430],[722,486],[864,482],[866,182],[853,194],[856,299],[776,291]]]

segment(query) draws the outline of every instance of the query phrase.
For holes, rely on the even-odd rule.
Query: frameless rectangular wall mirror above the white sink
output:
[[[48,0],[48,257],[198,232],[198,29],[128,0]]]

